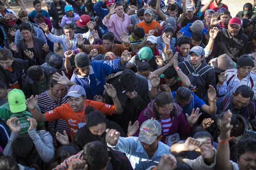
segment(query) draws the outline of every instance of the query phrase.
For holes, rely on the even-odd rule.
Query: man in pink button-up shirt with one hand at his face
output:
[[[122,41],[122,32],[129,32],[133,30],[133,25],[129,15],[124,13],[123,4],[116,2],[109,8],[109,13],[104,17],[102,23],[106,25],[108,31],[113,32],[115,40]],[[129,35],[128,35],[129,36]]]

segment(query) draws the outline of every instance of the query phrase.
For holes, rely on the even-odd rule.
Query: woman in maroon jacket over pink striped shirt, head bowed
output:
[[[164,84],[160,86],[160,91],[157,93],[155,100],[150,102],[140,113],[138,121],[141,125],[145,120],[156,119],[162,126],[163,138],[161,141],[165,143],[165,138],[174,133],[189,134],[201,114],[199,114],[199,108],[193,109],[190,116],[186,113],[186,120],[182,108],[174,103],[171,89]],[[139,130],[134,136],[138,136],[138,134]]]

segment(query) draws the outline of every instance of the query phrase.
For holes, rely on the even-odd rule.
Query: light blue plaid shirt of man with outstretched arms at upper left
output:
[[[67,39],[66,35],[61,35],[61,36],[56,36],[56,35],[52,35],[52,33],[49,34],[45,34],[46,37],[48,37],[48,39],[52,42],[56,42],[56,43],[60,43],[62,45],[63,48],[63,56],[64,53],[67,51],[67,46],[65,44],[65,41]],[[89,41],[89,37],[90,35],[92,35],[92,32],[89,30],[87,33],[82,34],[84,38],[86,38]],[[76,43],[77,43],[77,34],[74,34],[74,38],[72,40],[69,40],[70,43],[73,42],[73,46],[71,48],[71,50],[77,49]]]

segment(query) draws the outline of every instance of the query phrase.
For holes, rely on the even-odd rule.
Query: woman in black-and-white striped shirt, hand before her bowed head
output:
[[[50,87],[47,91],[38,95],[38,106],[42,113],[50,112],[56,107],[68,103],[68,98],[64,97],[67,95],[69,87],[76,85],[75,82],[70,81],[62,71],[62,75],[59,73],[53,74],[50,80]],[[48,122],[47,130],[51,133],[53,138],[53,143],[57,147],[56,132],[63,133],[65,130],[67,132],[68,138],[70,138],[69,128],[67,123],[63,119],[58,119],[52,122]]]

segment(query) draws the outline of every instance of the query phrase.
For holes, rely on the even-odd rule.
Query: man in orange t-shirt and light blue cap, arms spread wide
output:
[[[108,105],[94,100],[86,100],[86,92],[84,88],[79,85],[74,85],[68,90],[67,95],[65,96],[65,98],[68,97],[68,103],[56,107],[45,114],[41,114],[36,108],[38,101],[37,95],[35,98],[34,96],[28,98],[26,105],[30,109],[33,118],[35,118],[38,123],[64,119],[67,122],[71,138],[73,140],[78,129],[85,125],[86,115],[84,113],[84,109],[86,106],[91,105],[95,110],[99,110],[103,114],[108,115],[120,114],[123,112],[123,107],[116,96],[116,89],[113,88],[111,84],[106,84],[104,88],[106,89],[108,96],[111,96],[114,102],[113,105]]]

